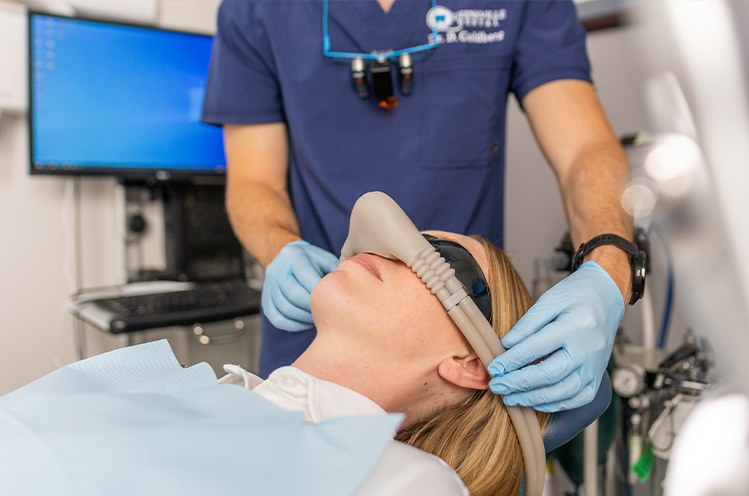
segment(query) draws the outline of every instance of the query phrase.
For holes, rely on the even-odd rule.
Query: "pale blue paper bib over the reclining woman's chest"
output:
[[[0,397],[0,494],[352,494],[401,420],[312,424],[147,343]]]

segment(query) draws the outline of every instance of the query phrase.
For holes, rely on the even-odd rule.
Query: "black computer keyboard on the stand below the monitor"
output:
[[[200,283],[168,293],[89,300],[75,309],[84,320],[112,333],[206,324],[259,311],[260,292],[240,280]]]

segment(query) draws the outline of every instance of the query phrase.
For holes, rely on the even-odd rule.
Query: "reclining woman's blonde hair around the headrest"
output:
[[[505,253],[476,236],[486,251],[492,326],[502,337],[528,310],[531,297]],[[548,414],[537,412],[544,428]],[[523,455],[502,403],[490,390],[439,410],[401,430],[396,439],[442,458],[473,496],[520,493]]]

